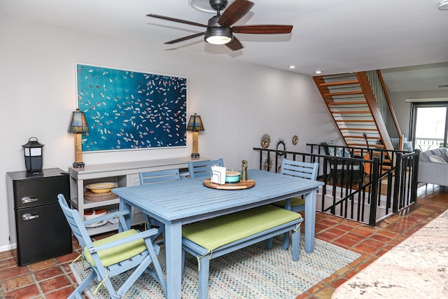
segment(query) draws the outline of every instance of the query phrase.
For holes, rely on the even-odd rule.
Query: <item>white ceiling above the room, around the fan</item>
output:
[[[310,76],[317,69],[323,74],[339,74],[435,64],[423,67],[423,75],[422,67],[416,67],[407,75],[402,72],[406,69],[386,71],[384,77],[394,81],[393,87],[388,86],[391,91],[415,90],[417,85],[410,78],[407,83],[398,82],[408,75],[417,76],[423,90],[448,84],[448,11],[437,9],[439,0],[252,1],[251,12],[236,25],[293,25],[293,32],[235,34],[244,46],[235,52],[209,45],[202,37],[166,45],[165,50],[216,55],[276,69],[295,64],[297,68],[289,71]],[[208,1],[193,2],[207,6]],[[0,14],[123,40],[162,44],[204,30],[149,18],[148,13],[202,24],[213,16],[193,8],[189,0],[0,1]],[[431,86],[423,86],[421,76],[429,78]]]

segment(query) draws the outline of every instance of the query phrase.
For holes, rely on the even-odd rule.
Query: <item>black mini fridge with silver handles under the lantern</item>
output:
[[[71,230],[57,195],[70,197],[69,174],[59,168],[8,172],[9,240],[18,265],[71,253]]]

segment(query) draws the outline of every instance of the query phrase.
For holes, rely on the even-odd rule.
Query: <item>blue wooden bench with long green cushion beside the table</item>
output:
[[[184,225],[182,261],[185,260],[186,251],[197,257],[199,298],[207,298],[209,260],[212,258],[265,240],[267,248],[270,249],[272,237],[291,231],[293,260],[299,260],[300,223],[300,214],[269,204]],[[283,249],[288,249],[288,244],[284,241]]]

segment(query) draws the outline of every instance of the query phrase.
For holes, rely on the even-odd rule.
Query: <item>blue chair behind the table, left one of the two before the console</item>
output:
[[[176,181],[181,179],[179,174],[179,169],[167,169],[167,170],[159,170],[155,172],[140,172],[140,184],[145,185],[147,183],[161,183],[164,181]],[[150,228],[157,227],[158,233],[153,235],[151,239],[155,241],[160,235],[165,232],[165,226],[160,221],[146,215],[146,223],[150,226]]]

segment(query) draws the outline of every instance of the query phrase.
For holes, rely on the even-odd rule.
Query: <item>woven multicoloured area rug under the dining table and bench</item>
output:
[[[281,249],[281,240],[281,236],[276,237],[270,250],[264,243],[258,243],[211,260],[209,298],[295,298],[360,256],[319,239],[314,243],[314,252],[307,253],[302,235],[300,260],[294,262],[291,250]],[[164,269],[163,246],[159,260]],[[73,263],[70,267],[78,284],[91,271],[90,268],[83,270],[82,262]],[[126,273],[113,277],[113,284],[120,285],[126,277]],[[94,280],[85,291],[88,298],[109,298],[104,286],[93,294],[96,287],[97,281]],[[182,298],[197,298],[197,288],[197,260],[186,253]],[[144,274],[123,298],[165,298],[165,295],[160,284]]]

